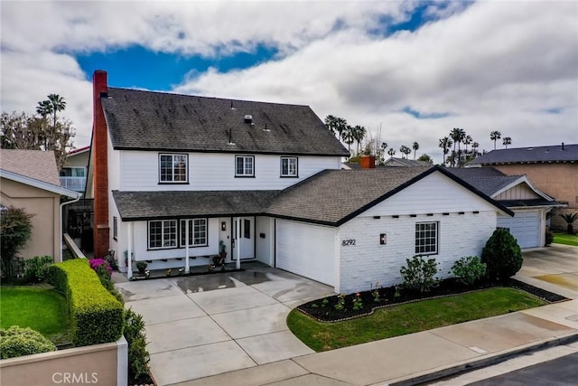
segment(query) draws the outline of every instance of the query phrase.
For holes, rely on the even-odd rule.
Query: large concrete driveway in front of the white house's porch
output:
[[[143,315],[160,385],[313,353],[288,330],[294,306],[333,288],[258,263],[245,271],[117,284]]]

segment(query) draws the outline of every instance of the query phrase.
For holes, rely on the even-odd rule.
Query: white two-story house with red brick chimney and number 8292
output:
[[[188,270],[222,246],[352,292],[400,282],[415,254],[446,275],[513,215],[437,166],[340,170],[347,149],[306,106],[93,80],[95,256],[129,277],[125,257]]]

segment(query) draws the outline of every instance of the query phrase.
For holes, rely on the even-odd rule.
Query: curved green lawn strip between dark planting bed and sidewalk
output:
[[[544,301],[524,291],[494,287],[453,297],[381,308],[373,315],[338,323],[320,323],[293,310],[287,316],[287,325],[304,344],[321,352],[544,304]]]

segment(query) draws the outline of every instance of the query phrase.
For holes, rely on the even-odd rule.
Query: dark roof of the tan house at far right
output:
[[[533,164],[578,162],[578,145],[518,147],[492,150],[473,159],[468,165]]]

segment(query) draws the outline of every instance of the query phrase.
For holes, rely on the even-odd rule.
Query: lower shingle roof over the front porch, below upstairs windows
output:
[[[112,196],[123,221],[255,215],[280,191],[119,192]]]

